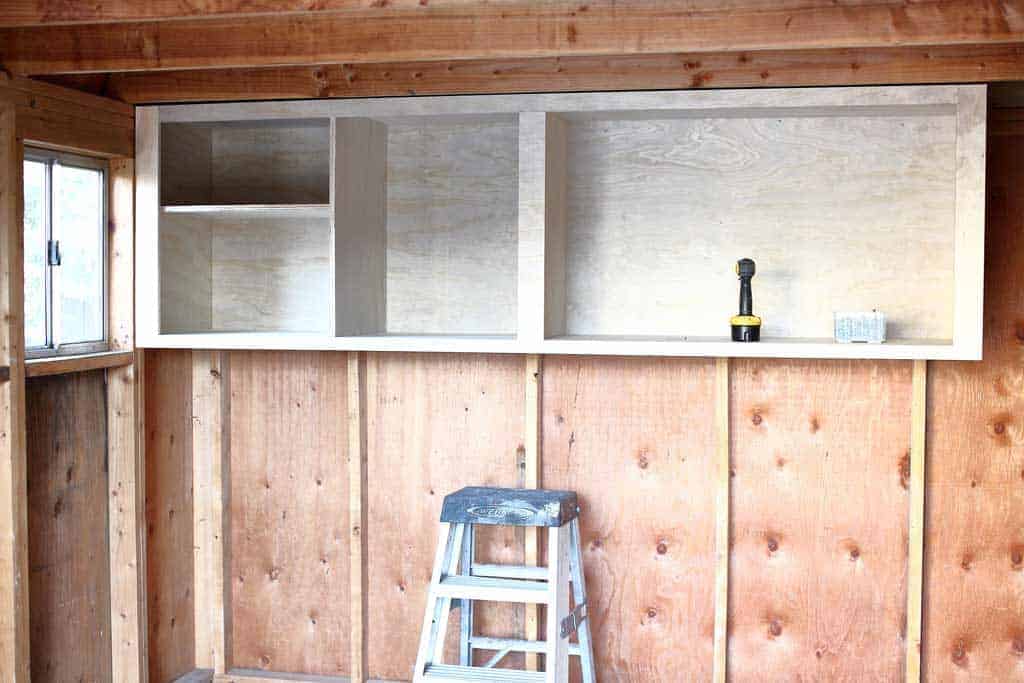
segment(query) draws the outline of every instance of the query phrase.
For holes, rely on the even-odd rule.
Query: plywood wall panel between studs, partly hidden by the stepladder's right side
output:
[[[548,357],[545,487],[580,495],[597,671],[710,680],[715,364]]]

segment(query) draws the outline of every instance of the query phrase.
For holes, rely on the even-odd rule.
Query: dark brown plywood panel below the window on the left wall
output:
[[[26,386],[32,680],[111,678],[103,371]]]

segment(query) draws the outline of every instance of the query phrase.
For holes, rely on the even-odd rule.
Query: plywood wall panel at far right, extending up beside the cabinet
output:
[[[993,138],[988,170],[984,360],[929,365],[930,681],[1024,677],[1024,135]]]

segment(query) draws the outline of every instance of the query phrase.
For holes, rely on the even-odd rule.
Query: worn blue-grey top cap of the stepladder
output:
[[[454,524],[561,526],[579,513],[573,490],[466,486],[444,497],[441,521]]]

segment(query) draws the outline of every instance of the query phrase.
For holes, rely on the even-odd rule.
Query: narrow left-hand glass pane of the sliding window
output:
[[[46,339],[46,164],[25,162],[25,345]]]

